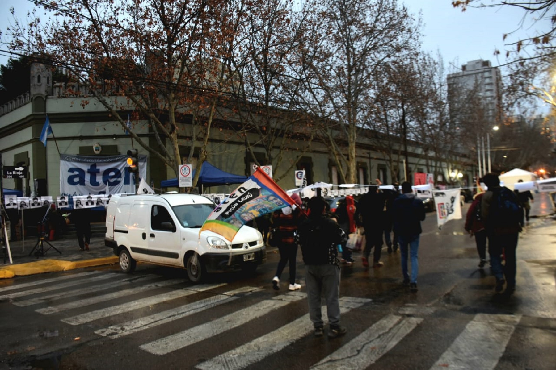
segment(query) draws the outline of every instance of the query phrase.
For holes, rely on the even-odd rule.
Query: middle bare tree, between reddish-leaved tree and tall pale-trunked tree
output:
[[[238,25],[247,37],[235,42],[241,52],[230,64],[239,81],[232,86],[241,122],[235,128],[237,135],[245,140],[255,164],[272,165],[276,181],[295,167],[314,137],[310,117],[298,111],[294,100],[300,84],[293,76],[295,61],[290,55],[304,32],[303,22],[295,19],[289,0],[264,2]],[[295,156],[285,156],[294,150]]]

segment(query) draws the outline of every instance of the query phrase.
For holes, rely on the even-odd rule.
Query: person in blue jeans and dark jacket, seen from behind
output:
[[[394,201],[394,233],[398,235],[404,285],[409,285],[411,292],[416,292],[419,273],[419,237],[423,232],[421,221],[425,219],[425,206],[423,201],[415,197],[409,182],[401,183],[401,193],[401,196]],[[408,251],[411,257],[411,277],[408,272]]]

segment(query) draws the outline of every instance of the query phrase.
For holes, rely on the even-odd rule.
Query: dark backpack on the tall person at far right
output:
[[[513,191],[503,186],[493,192],[489,212],[489,225],[516,227],[523,224],[523,207]]]

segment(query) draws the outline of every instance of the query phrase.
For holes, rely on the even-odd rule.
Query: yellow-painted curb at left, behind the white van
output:
[[[28,276],[47,272],[69,271],[77,268],[102,266],[117,263],[118,257],[102,257],[85,259],[83,261],[62,261],[59,259],[43,259],[37,262],[14,264],[0,268],[0,279],[9,279],[14,276]]]

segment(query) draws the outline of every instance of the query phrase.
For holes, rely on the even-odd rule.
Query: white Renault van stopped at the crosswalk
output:
[[[262,235],[242,226],[230,243],[200,228],[215,208],[194,194],[114,195],[106,211],[105,245],[120,257],[120,268],[132,272],[136,261],[187,269],[192,282],[206,273],[242,269],[255,272],[266,261]]]

